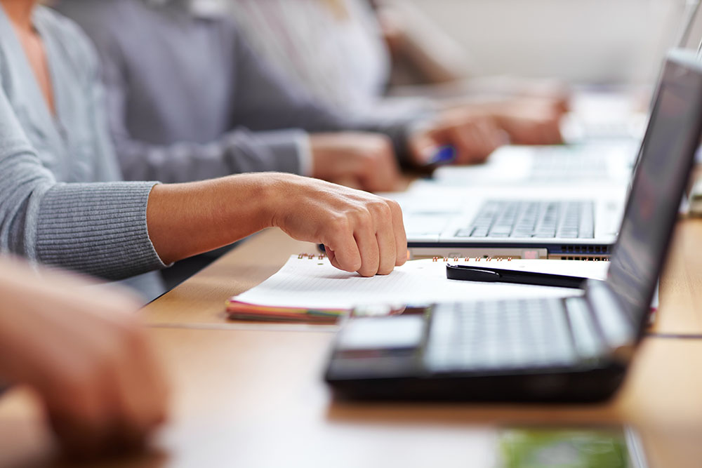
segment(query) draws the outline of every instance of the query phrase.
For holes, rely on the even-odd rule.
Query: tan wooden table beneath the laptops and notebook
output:
[[[700,333],[702,221],[680,222],[654,333]],[[702,460],[702,340],[647,337],[625,385],[595,406],[333,401],[322,382],[333,329],[225,321],[224,301],[314,245],[271,229],[147,306],[173,381],[171,420],[151,453],[106,466],[481,467],[489,429],[633,424],[654,467]],[[26,389],[0,400],[0,466],[52,464]]]

